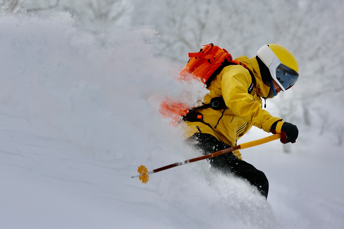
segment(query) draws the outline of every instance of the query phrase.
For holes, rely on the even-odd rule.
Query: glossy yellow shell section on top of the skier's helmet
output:
[[[286,48],[277,44],[268,44],[269,48],[275,53],[283,65],[288,66],[299,73],[299,64],[294,55]]]

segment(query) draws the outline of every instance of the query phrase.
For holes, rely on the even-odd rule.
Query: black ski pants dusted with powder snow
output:
[[[231,147],[217,140],[213,135],[204,133],[195,133],[186,141],[195,148],[201,149],[204,154]],[[240,160],[232,152],[210,158],[209,163],[223,173],[232,173],[246,179],[251,185],[256,186],[263,196],[268,198],[269,182],[265,174],[246,161]]]

